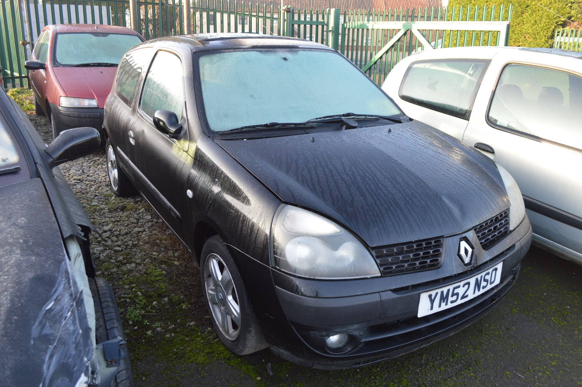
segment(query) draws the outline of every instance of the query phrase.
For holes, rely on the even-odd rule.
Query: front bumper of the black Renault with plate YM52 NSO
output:
[[[471,233],[472,230],[446,239],[452,241],[463,236],[472,239]],[[494,308],[515,283],[521,260],[530,244],[531,225],[526,216],[520,226],[494,247],[487,251],[477,247],[476,264],[464,271],[457,271],[457,274],[446,274],[454,270],[446,267],[446,261],[451,261],[455,266],[460,260],[456,257],[456,249],[445,247],[443,267],[424,274],[418,273],[426,281],[418,281],[419,278],[414,274],[350,281],[350,284],[343,283],[339,286],[339,290],[319,287],[321,296],[310,294],[310,286],[306,285],[308,281],[292,281],[296,283],[290,288],[289,276],[273,272],[279,302],[294,336],[299,340],[280,341],[272,344],[271,350],[286,360],[307,367],[335,369],[360,367],[420,349],[453,335]],[[491,290],[458,306],[417,317],[421,293],[463,281],[501,261],[501,282]],[[440,278],[435,278],[439,274]],[[400,279],[406,281],[413,278],[417,282],[409,281],[406,286],[402,286]],[[374,283],[380,281],[384,284],[398,283],[399,286],[391,286],[391,290],[378,292],[359,292],[376,287]],[[315,283],[312,285],[315,286]],[[345,294],[346,292],[352,294]],[[330,297],[331,293],[336,294]],[[342,293],[345,295],[341,296]],[[287,338],[292,336],[291,332],[286,333]],[[325,337],[338,333],[350,333],[356,338],[356,344],[350,352],[333,354],[326,350]]]

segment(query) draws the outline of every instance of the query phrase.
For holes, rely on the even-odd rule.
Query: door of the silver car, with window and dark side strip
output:
[[[494,59],[483,81],[492,87],[481,87],[463,141],[486,144],[485,153],[513,175],[541,244],[582,258],[582,73],[574,70],[579,63],[512,52]],[[562,67],[566,63],[570,70]]]

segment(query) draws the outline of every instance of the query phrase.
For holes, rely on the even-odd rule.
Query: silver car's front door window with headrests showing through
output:
[[[495,89],[489,120],[582,149],[582,77],[535,66],[508,65]]]

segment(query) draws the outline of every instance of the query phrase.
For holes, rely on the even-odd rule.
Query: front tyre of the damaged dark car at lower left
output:
[[[109,283],[101,277],[89,278],[89,287],[95,304],[95,340],[97,344],[117,337],[120,337],[123,342],[120,345],[122,357],[119,371],[115,375],[111,387],[133,387],[129,352],[113,290]]]

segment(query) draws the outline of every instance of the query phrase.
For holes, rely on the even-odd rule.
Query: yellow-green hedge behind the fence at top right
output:
[[[582,0],[513,0],[511,28],[509,31],[509,45],[517,47],[552,47],[554,31],[562,27],[566,20],[549,10],[568,19],[576,14],[582,17]],[[450,0],[452,6],[491,7],[499,3],[482,3],[479,0]],[[542,6],[548,8],[546,10]],[[506,7],[507,8],[507,7]],[[499,20],[499,19],[495,19]]]

